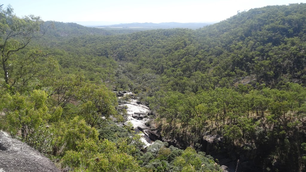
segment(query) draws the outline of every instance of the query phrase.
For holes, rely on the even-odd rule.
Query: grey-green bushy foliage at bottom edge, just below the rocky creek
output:
[[[153,144],[155,145],[155,144]],[[159,151],[157,154],[151,153],[152,150]],[[222,171],[218,164],[215,163],[213,157],[206,156],[204,152],[196,152],[195,149],[188,147],[185,150],[170,146],[166,148],[160,142],[153,149],[148,149],[143,156],[140,157],[143,168],[138,171]]]

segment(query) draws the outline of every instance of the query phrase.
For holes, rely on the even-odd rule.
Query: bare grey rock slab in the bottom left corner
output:
[[[0,172],[59,172],[54,163],[27,144],[0,131]]]

